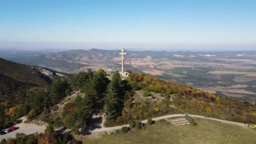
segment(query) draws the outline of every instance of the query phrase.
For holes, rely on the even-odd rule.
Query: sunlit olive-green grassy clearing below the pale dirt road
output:
[[[254,144],[256,129],[194,118],[197,126],[174,126],[161,120],[145,129],[78,139],[85,144]]]

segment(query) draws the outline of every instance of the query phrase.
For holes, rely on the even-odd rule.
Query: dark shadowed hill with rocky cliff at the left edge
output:
[[[59,77],[71,76],[45,67],[0,59],[0,115],[9,107],[24,104],[30,90],[47,87]]]

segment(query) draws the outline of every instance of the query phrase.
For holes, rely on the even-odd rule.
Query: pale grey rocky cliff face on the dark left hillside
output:
[[[38,72],[40,77],[44,78],[48,83],[51,83],[53,80],[58,79],[59,77],[66,77],[66,75],[63,75],[59,72],[53,71],[51,69],[47,69],[45,67],[39,67],[39,66],[31,66],[31,69]]]

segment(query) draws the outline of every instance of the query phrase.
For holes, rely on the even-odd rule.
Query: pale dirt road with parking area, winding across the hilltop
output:
[[[161,117],[152,118],[152,120],[157,121],[157,120],[163,120],[163,119],[166,119],[166,118],[182,117],[182,116],[184,116],[184,115],[181,115],[181,114],[165,115],[165,116],[161,116]],[[200,116],[200,115],[190,115],[190,116],[205,119],[205,117]],[[36,133],[36,132],[43,133],[44,130],[45,130],[45,126],[36,125],[34,123],[24,123],[24,121],[26,121],[26,116],[21,117],[21,120],[22,120],[22,123],[19,123],[19,124],[15,125],[15,127],[19,127],[19,129],[15,130],[15,131],[12,131],[11,133],[6,133],[5,135],[0,136],[0,141],[2,139],[7,139],[8,137],[15,138],[16,133],[25,133],[25,134],[29,135],[29,134],[33,134],[33,133]],[[220,120],[220,119],[216,119],[216,118],[210,118],[210,120],[216,120],[216,121],[223,122],[223,123],[230,123],[230,124],[245,127],[244,123],[237,123],[237,122],[232,122],[232,121],[227,121],[227,120]],[[147,120],[142,120],[141,122],[142,123],[147,123]],[[114,126],[114,127],[109,127],[109,128],[105,128],[105,127],[96,128],[93,131],[91,131],[91,133],[114,132],[114,131],[117,131],[117,130],[125,127],[125,126],[128,127],[129,125],[127,124],[127,125],[119,125],[119,126]],[[56,128],[55,130],[59,130],[59,129]]]

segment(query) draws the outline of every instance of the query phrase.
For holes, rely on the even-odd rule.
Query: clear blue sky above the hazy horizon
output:
[[[256,0],[5,0],[0,48],[256,49]]]

